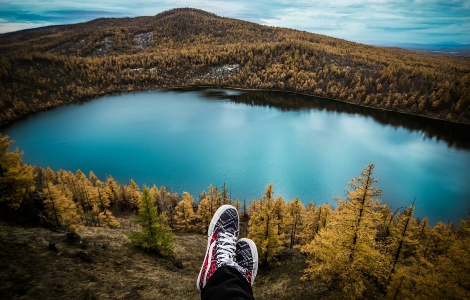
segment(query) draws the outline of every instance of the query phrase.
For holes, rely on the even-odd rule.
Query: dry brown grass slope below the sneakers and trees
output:
[[[0,223],[0,299],[199,299],[195,280],[202,262],[206,238],[179,235],[172,259],[134,248],[119,229],[87,227],[81,242],[45,228],[14,227]],[[48,249],[55,243],[58,253]],[[86,252],[91,262],[80,258]],[[280,263],[258,272],[255,298],[318,298],[312,283],[300,281],[305,258],[286,252]]]

